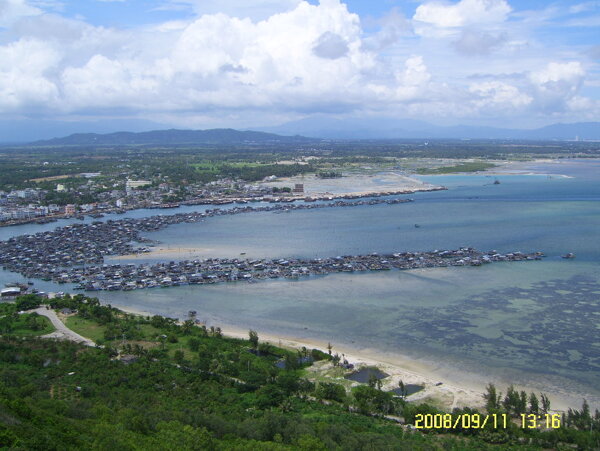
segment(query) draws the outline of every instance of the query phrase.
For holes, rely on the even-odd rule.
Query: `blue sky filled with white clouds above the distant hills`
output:
[[[600,0],[0,0],[0,141],[598,121],[599,30]]]

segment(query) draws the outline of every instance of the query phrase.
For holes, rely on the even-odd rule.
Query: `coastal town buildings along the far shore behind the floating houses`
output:
[[[239,179],[219,179],[207,184],[190,184],[173,187],[168,183],[154,184],[148,180],[131,180],[125,182],[124,189],[113,189],[90,195],[94,188],[94,177],[99,174],[83,174],[88,177],[84,185],[68,189],[58,183],[57,193],[68,192],[69,199],[94,199],[89,203],[66,203],[59,205],[48,203],[51,198],[48,190],[25,188],[10,192],[0,191],[0,226],[19,225],[30,222],[47,223],[61,218],[84,219],[90,216],[101,218],[109,213],[124,213],[137,209],[176,208],[182,205],[224,205],[248,202],[314,202],[333,199],[357,199],[363,197],[381,197],[410,194],[416,191],[438,191],[445,189],[438,186],[414,187],[406,189],[376,190],[360,194],[305,193],[302,183],[292,187],[278,187],[266,183],[247,183]],[[277,180],[275,176],[266,177],[264,182]]]

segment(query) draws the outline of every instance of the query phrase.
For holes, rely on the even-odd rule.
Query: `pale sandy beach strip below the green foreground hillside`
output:
[[[153,316],[153,313],[137,310],[134,308],[113,305],[114,307],[130,314]],[[247,328],[241,325],[233,325],[217,321],[216,318],[210,319],[211,325],[221,327],[223,335],[229,338],[248,339]],[[214,324],[213,324],[214,323]],[[328,343],[324,340],[311,337],[295,337],[281,333],[257,330],[259,340],[263,343],[269,343],[274,346],[300,350],[302,347],[307,349],[320,349],[327,352]],[[377,367],[387,373],[389,376],[382,379],[382,389],[384,391],[392,390],[398,387],[398,382],[402,380],[405,384],[416,384],[424,386],[424,389],[407,397],[411,402],[427,402],[437,407],[452,411],[454,408],[483,408],[485,400],[483,394],[488,383],[494,383],[496,388],[502,393],[506,393],[506,387],[499,385],[494,380],[483,380],[482,376],[459,368],[442,367],[435,362],[426,360],[417,360],[399,353],[390,353],[373,348],[360,348],[358,346],[348,345],[346,343],[332,343],[332,353],[344,356],[349,363],[354,364],[355,368]],[[315,378],[316,373],[323,367],[330,364],[321,364],[319,362],[313,365],[313,370],[309,369],[308,378]],[[316,370],[316,371],[315,371]],[[479,377],[478,377],[479,376]],[[332,379],[332,382],[341,382]],[[347,380],[344,382],[348,383]],[[441,384],[440,384],[441,383]],[[352,386],[358,383],[352,383]],[[528,385],[514,384],[515,389],[525,390],[527,392],[539,391],[539,388]],[[580,408],[574,403],[574,395],[568,393],[558,393],[556,391],[544,391],[551,399],[554,413],[566,412],[568,408]]]

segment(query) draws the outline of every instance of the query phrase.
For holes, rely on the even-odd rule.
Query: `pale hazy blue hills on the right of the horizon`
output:
[[[484,126],[438,126],[424,121],[394,118],[335,119],[313,116],[276,127],[271,133],[302,134],[329,139],[531,139],[600,140],[600,122],[552,124],[537,129],[505,129]]]

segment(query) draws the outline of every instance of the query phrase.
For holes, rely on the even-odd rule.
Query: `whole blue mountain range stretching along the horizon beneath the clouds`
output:
[[[307,137],[308,136],[308,137]],[[439,126],[417,120],[332,119],[312,117],[258,130],[153,130],[143,132],[75,133],[30,143],[34,146],[122,145],[252,145],[301,144],[321,139],[508,139],[600,140],[600,122],[552,124],[537,129],[482,126]]]

